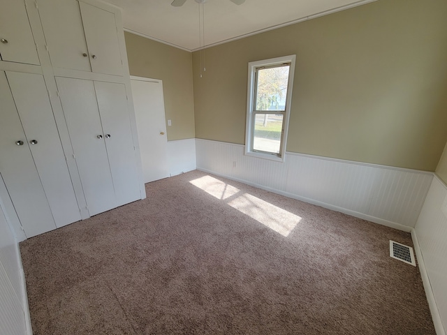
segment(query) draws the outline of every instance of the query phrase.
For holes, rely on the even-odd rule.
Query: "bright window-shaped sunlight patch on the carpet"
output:
[[[211,176],[200,177],[190,181],[191,184],[227,203],[238,211],[254,218],[266,227],[287,237],[300,222],[298,215],[281,209],[249,193],[240,194],[240,190]]]

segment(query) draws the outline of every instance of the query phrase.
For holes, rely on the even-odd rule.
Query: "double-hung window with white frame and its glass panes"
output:
[[[245,154],[284,161],[295,55],[249,63]]]

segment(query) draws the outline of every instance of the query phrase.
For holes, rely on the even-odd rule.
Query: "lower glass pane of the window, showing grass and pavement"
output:
[[[283,115],[256,114],[253,149],[279,154]]]

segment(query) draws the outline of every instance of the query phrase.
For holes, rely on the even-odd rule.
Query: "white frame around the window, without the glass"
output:
[[[290,118],[291,112],[291,101],[292,101],[292,91],[293,91],[293,75],[295,74],[295,59],[296,55],[291,54],[290,56],[277,57],[272,59],[265,59],[263,61],[251,61],[249,62],[249,78],[247,87],[247,122],[245,126],[245,154],[247,156],[254,156],[258,158],[270,159],[272,161],[284,162],[286,157],[286,141],[288,133],[288,119]],[[284,63],[290,63],[290,70],[288,74],[288,86],[287,86],[287,96],[286,96],[286,107],[284,113],[284,128],[281,133],[281,147],[279,154],[273,154],[263,151],[255,151],[253,149],[254,140],[254,118],[255,118],[255,89],[256,89],[256,68],[261,68],[263,66],[275,66]]]

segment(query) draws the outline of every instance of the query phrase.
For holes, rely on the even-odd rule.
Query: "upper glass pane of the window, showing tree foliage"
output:
[[[290,66],[259,68],[255,110],[286,110]]]

